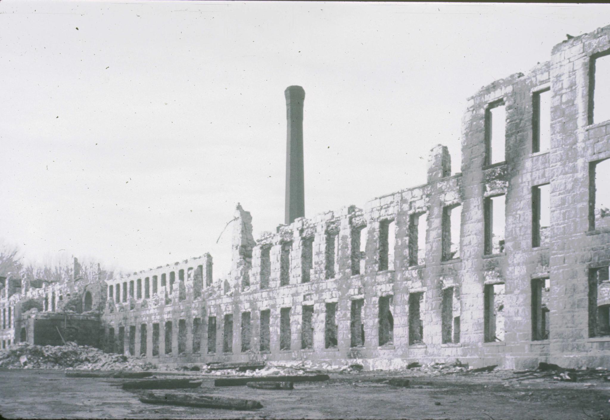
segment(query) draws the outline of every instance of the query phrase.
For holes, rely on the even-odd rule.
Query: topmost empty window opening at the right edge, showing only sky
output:
[[[591,57],[589,124],[610,120],[610,50]]]

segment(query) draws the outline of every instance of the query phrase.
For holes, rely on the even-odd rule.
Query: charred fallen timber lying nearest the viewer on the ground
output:
[[[146,404],[181,405],[184,407],[223,408],[224,410],[254,410],[263,405],[256,400],[211,395],[148,393],[140,397]]]

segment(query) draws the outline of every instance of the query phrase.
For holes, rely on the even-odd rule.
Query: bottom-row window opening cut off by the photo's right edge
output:
[[[589,269],[589,337],[610,336],[608,267]]]

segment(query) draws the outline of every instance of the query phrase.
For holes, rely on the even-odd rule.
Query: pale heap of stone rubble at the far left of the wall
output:
[[[91,346],[37,346],[22,342],[0,350],[0,368],[5,369],[84,369],[145,371],[156,366],[143,359],[104,353]]]

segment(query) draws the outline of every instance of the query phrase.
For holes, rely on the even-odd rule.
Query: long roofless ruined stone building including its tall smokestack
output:
[[[255,240],[237,205],[228,278],[204,254],[88,284],[5,279],[3,347],[98,322],[98,346],[167,366],[610,367],[610,26],[469,98],[461,172],[438,145],[425,185],[362,209],[303,217],[303,89],[286,98],[287,224]],[[81,307],[59,312],[68,292]]]

